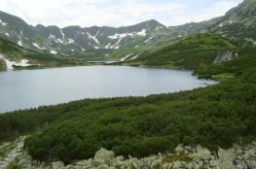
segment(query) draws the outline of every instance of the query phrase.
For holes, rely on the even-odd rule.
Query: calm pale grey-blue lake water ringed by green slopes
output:
[[[84,98],[188,90],[213,81],[192,72],[128,66],[84,66],[0,72],[0,113]]]

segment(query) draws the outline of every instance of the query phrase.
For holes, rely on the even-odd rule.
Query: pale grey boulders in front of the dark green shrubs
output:
[[[210,152],[202,148],[178,145],[174,152],[158,153],[144,158],[115,156],[114,152],[101,148],[93,158],[73,161],[64,165],[61,161],[52,163],[33,160],[21,151],[19,138],[17,147],[0,157],[1,169],[10,165],[24,169],[255,169],[256,142],[247,146],[234,145],[232,149]],[[5,162],[4,162],[5,161]],[[9,168],[8,168],[9,169]]]

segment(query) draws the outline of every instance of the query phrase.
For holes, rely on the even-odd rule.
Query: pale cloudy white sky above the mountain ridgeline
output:
[[[0,11],[36,25],[177,25],[223,16],[242,0],[0,0]]]

